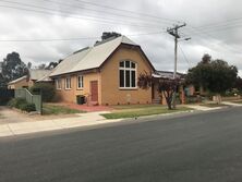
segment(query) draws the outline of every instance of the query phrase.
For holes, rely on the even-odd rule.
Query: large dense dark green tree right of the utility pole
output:
[[[186,75],[186,83],[203,87],[211,94],[220,95],[231,89],[237,80],[238,70],[223,60],[211,60],[207,54]]]

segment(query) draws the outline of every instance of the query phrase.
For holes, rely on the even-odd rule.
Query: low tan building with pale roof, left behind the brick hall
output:
[[[28,75],[24,75],[19,77],[14,81],[8,83],[9,89],[17,89],[17,88],[29,88],[36,82],[48,82],[51,83],[52,81],[49,78],[49,74],[51,73],[50,70],[35,70],[29,69]]]

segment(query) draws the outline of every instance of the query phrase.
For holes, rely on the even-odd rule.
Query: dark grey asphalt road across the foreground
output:
[[[241,182],[241,111],[0,139],[0,181]]]

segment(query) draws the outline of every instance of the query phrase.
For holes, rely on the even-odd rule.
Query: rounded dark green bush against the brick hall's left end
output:
[[[36,83],[31,87],[32,94],[41,94],[43,101],[52,101],[56,95],[55,86],[50,83]]]

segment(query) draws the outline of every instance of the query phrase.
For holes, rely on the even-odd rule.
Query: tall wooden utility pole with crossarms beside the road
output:
[[[186,24],[182,25],[174,25],[172,28],[167,28],[168,34],[172,35],[174,37],[174,71],[173,71],[173,80],[177,78],[177,70],[178,70],[178,39],[181,38],[178,31],[179,28],[185,26]],[[174,90],[172,96],[172,105],[173,108],[176,108],[176,99],[177,99],[177,90]]]

